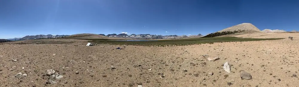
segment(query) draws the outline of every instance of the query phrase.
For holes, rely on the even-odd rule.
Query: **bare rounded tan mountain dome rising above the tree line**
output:
[[[238,30],[245,30],[245,32],[261,32],[260,29],[258,29],[257,27],[255,27],[254,25],[252,25],[251,23],[242,23],[239,25],[234,25],[232,27],[229,28],[225,28],[223,30],[220,30],[218,32],[223,32],[223,31],[238,31]]]

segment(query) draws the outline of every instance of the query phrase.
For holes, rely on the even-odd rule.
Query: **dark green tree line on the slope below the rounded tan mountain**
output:
[[[216,36],[223,36],[223,35],[230,35],[234,33],[241,33],[244,32],[245,30],[234,30],[234,31],[223,31],[223,32],[215,32],[215,33],[210,33],[206,36],[203,37],[216,37]]]

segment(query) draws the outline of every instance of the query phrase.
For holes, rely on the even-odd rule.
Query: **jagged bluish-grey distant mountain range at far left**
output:
[[[35,36],[25,36],[19,40],[28,40],[28,39],[40,39],[40,38],[57,38],[57,37],[62,37],[62,36],[69,36],[69,35],[51,35],[51,34],[48,34],[48,35],[35,35]]]

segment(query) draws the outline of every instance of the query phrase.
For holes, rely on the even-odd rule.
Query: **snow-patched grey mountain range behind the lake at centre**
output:
[[[99,34],[102,36],[105,36],[104,34]],[[117,37],[117,38],[128,38],[128,39],[184,39],[184,38],[198,38],[198,37],[202,37],[203,35],[198,34],[198,35],[192,35],[192,36],[186,36],[186,35],[182,35],[182,36],[178,36],[178,35],[166,35],[166,36],[162,36],[162,35],[151,35],[151,34],[131,34],[131,35],[127,35],[126,33],[121,33],[121,34],[108,34],[106,35],[107,37]]]

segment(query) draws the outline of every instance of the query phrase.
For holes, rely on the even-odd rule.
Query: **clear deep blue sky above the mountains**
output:
[[[38,34],[206,35],[252,23],[299,30],[298,0],[0,0],[0,39]]]

